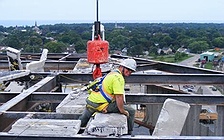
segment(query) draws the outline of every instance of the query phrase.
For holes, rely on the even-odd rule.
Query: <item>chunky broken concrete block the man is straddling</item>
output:
[[[86,133],[94,136],[120,136],[127,134],[127,117],[118,113],[97,113],[89,121]]]

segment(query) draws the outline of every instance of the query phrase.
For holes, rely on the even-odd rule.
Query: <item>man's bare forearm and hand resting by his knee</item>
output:
[[[115,100],[117,103],[117,107],[121,114],[124,114],[126,116],[129,116],[128,111],[124,110],[124,97],[123,94],[117,94],[115,95]]]

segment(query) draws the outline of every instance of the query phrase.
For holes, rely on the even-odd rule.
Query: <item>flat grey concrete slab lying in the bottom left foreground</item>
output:
[[[80,130],[80,120],[19,119],[9,134],[18,136],[72,137]]]

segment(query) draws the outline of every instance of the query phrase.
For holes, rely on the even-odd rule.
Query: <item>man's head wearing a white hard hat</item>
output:
[[[124,76],[129,76],[136,71],[136,61],[134,59],[125,59],[119,65]]]

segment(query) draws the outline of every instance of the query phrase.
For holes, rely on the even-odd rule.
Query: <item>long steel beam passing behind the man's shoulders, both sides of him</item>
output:
[[[64,83],[88,83],[92,74],[60,73],[59,81]],[[126,83],[138,84],[224,84],[224,74],[137,74],[126,77]]]

